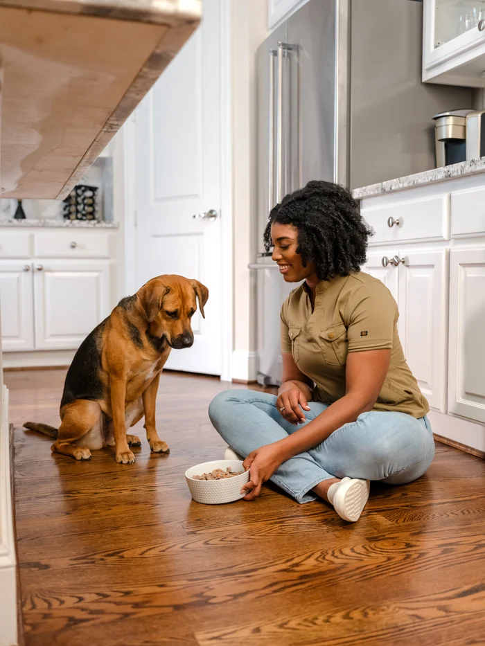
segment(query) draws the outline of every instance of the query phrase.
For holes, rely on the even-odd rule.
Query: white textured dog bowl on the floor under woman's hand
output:
[[[231,471],[244,471],[241,460],[213,460],[186,470],[185,479],[192,497],[197,503],[220,505],[244,498],[246,494],[241,494],[240,490],[243,485],[249,482],[249,471],[240,474],[240,476],[232,476],[232,478],[224,478],[223,480],[194,480],[193,478],[193,476],[210,473],[214,469],[227,469],[227,467],[231,467]]]

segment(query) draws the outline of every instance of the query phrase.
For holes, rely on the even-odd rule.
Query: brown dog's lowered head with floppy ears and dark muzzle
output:
[[[198,280],[184,276],[157,276],[136,294],[150,324],[150,331],[165,337],[171,348],[190,348],[194,341],[191,318],[199,301],[200,313],[209,298],[209,289]],[[197,299],[197,300],[196,300]]]

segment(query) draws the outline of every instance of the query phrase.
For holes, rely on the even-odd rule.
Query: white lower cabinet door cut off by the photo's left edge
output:
[[[33,350],[33,284],[30,260],[0,260],[0,303],[3,350]]]

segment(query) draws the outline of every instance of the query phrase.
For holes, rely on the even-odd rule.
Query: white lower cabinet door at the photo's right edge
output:
[[[485,423],[485,248],[450,253],[448,410]]]

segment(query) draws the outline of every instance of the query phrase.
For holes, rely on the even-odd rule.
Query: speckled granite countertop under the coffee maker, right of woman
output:
[[[407,175],[407,177],[398,177],[398,179],[389,179],[378,184],[355,188],[352,191],[352,196],[354,199],[363,199],[364,197],[373,197],[374,195],[405,190],[406,188],[416,188],[417,186],[425,186],[426,184],[445,181],[453,177],[465,177],[466,175],[480,172],[485,172],[485,157],[472,159],[471,161],[461,161],[450,166],[432,168],[432,170]]]

